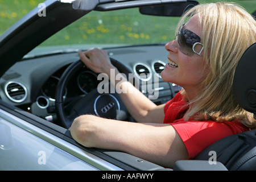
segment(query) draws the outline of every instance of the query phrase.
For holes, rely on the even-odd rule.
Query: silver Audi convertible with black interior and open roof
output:
[[[179,16],[197,4],[47,0],[5,31],[0,37],[0,169],[255,170],[254,130],[224,138],[195,160],[177,161],[174,169],[125,152],[86,148],[68,130],[86,113],[136,122],[116,92],[99,92],[104,78],[82,64],[79,50],[106,49],[119,71],[155,104],[171,100],[181,88],[160,77],[164,45],[173,39]],[[247,49],[234,78],[237,102],[251,112],[256,112],[255,52],[255,44]],[[111,91],[108,86],[100,89]]]

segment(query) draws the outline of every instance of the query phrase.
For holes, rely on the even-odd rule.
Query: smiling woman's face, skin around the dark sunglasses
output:
[[[183,28],[192,31],[201,38],[199,22],[196,15],[192,16],[184,24]],[[197,86],[205,79],[208,73],[208,69],[205,69],[203,56],[197,55],[196,53],[192,56],[185,55],[178,48],[176,39],[167,43],[165,48],[169,53],[168,63],[161,73],[163,80],[180,85],[186,91],[188,89],[197,89]],[[200,50],[201,48],[201,45],[195,47],[196,50]],[[203,52],[201,55],[203,55]]]

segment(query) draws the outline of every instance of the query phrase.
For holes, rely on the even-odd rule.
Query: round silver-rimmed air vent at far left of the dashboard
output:
[[[27,97],[27,89],[19,82],[10,81],[5,85],[5,93],[11,101],[22,102]]]

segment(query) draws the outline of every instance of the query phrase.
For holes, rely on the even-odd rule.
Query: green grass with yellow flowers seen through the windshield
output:
[[[52,44],[148,44],[173,39],[179,17],[148,16],[139,9],[91,11],[41,46]]]

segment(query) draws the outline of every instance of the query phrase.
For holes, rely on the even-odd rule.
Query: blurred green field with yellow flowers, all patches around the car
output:
[[[227,0],[226,0],[227,1]],[[40,0],[0,0],[0,35],[26,15]],[[199,0],[199,3],[213,2]],[[216,1],[214,1],[216,2]],[[256,0],[236,0],[249,13],[256,10]],[[46,12],[47,15],[47,12]],[[140,15],[138,9],[92,11],[64,28],[41,46],[64,44],[147,44],[174,39],[179,18]]]

